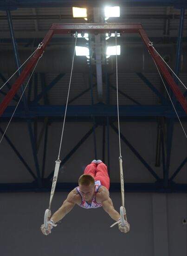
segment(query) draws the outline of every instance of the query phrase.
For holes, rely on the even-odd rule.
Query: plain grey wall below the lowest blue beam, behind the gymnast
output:
[[[55,194],[52,212],[66,196],[67,193]],[[120,194],[111,193],[110,197],[119,209]],[[125,205],[131,227],[128,234],[117,227],[110,228],[113,220],[102,208],[86,210],[75,206],[52,234],[44,236],[40,225],[48,202],[49,193],[0,194],[2,256],[186,256],[187,226],[182,225],[187,216],[185,194],[127,193]],[[168,255],[164,254],[166,249]]]

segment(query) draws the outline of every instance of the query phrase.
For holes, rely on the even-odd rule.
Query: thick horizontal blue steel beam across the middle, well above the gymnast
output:
[[[15,106],[8,106],[1,116],[3,118],[11,117]],[[24,109],[21,107],[17,108],[14,117],[19,118],[35,118],[35,117],[60,117],[64,115],[65,106],[48,106],[48,105],[30,105],[29,112],[25,113]],[[186,117],[186,113],[182,109],[181,105],[178,104],[176,108],[179,117]],[[176,114],[171,106],[166,105],[120,105],[119,106],[121,117],[143,117],[143,116],[164,116],[167,118],[174,117],[177,119]],[[105,105],[105,104],[95,104],[95,105],[70,105],[67,109],[67,116],[105,116],[112,117],[116,116],[116,105]]]

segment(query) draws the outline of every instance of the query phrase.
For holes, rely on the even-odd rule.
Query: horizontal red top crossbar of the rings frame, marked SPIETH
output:
[[[54,23],[50,28],[54,34],[74,34],[78,33],[138,33],[142,29],[140,23]]]

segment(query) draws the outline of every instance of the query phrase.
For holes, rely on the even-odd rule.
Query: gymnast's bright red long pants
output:
[[[93,176],[95,181],[100,181],[101,185],[103,185],[107,189],[110,188],[110,178],[107,166],[103,162],[100,162],[99,164],[90,163],[86,166],[84,174],[89,174]]]

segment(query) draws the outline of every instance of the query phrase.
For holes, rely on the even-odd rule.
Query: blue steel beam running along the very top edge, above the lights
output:
[[[1,8],[32,8],[32,7],[103,7],[103,5],[118,4],[120,6],[171,6],[186,7],[185,0],[1,0]]]

